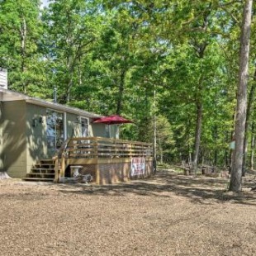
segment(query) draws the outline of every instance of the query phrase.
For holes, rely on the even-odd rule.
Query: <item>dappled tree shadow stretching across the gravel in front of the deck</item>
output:
[[[60,192],[84,195],[101,195],[111,197],[126,197],[133,193],[145,197],[187,197],[195,203],[225,202],[248,204],[256,206],[256,192],[244,189],[239,194],[227,192],[229,179],[209,178],[205,176],[183,176],[168,170],[159,171],[151,178],[134,180],[129,183],[113,185],[61,184]],[[251,183],[244,183],[249,187]],[[75,189],[74,189],[75,188]],[[77,189],[79,188],[79,189]]]

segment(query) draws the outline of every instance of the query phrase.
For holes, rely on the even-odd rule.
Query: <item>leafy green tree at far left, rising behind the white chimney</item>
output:
[[[0,66],[8,69],[9,88],[37,94],[45,81],[38,50],[40,1],[0,1],[0,24]]]

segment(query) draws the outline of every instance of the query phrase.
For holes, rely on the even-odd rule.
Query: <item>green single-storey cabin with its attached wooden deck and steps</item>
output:
[[[152,173],[152,145],[118,140],[96,113],[7,89],[0,70],[0,172],[11,178],[59,182],[74,172],[97,184]]]

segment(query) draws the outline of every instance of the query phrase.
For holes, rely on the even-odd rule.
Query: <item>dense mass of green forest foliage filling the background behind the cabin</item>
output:
[[[60,103],[133,120],[124,139],[152,142],[155,115],[158,159],[168,162],[191,158],[201,104],[200,160],[223,164],[241,10],[227,0],[0,1],[0,66],[11,89],[50,99],[57,88]]]

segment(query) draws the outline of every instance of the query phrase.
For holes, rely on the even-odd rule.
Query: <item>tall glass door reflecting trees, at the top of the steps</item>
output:
[[[62,112],[48,109],[47,115],[47,150],[49,156],[55,155],[56,151],[64,143],[64,115]]]

